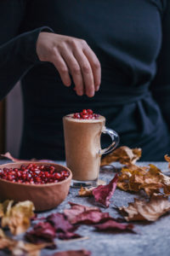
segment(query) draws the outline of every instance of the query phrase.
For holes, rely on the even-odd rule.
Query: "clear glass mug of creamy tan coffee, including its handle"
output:
[[[99,177],[102,154],[110,153],[119,143],[116,131],[105,127],[105,117],[73,119],[73,114],[63,118],[66,166],[71,169],[74,187],[95,186]],[[101,149],[101,133],[111,137],[111,145]]]

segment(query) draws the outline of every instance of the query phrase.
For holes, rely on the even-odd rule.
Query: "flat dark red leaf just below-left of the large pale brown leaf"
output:
[[[96,224],[94,227],[97,230],[130,230],[132,231],[134,226],[133,224],[122,224],[122,223],[117,223],[114,219],[108,219],[105,221],[103,224]]]

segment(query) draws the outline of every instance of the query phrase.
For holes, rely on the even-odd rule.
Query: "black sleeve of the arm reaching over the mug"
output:
[[[42,31],[51,32],[51,29],[37,28],[0,46],[0,100],[31,67],[40,62],[37,57],[36,43]]]

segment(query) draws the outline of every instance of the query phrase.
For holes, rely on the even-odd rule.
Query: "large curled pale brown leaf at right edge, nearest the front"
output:
[[[120,212],[127,221],[147,220],[156,221],[161,215],[170,211],[170,202],[163,195],[153,194],[150,201],[141,201],[138,198],[129,203],[128,207],[120,207]]]

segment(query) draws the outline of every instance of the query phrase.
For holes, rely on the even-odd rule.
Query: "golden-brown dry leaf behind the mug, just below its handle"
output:
[[[122,146],[116,148],[111,154],[107,154],[101,160],[101,166],[109,165],[111,162],[119,161],[122,165],[135,164],[137,160],[141,157],[142,149],[141,148],[128,148]]]

